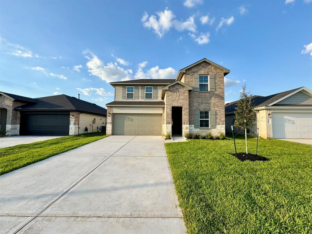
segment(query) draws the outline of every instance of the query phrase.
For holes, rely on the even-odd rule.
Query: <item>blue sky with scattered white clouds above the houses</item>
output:
[[[312,0],[1,1],[0,90],[78,96],[109,82],[176,78],[204,57],[231,70],[225,101],[312,88]]]

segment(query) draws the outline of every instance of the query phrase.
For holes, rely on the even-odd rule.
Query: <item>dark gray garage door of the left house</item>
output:
[[[66,136],[69,134],[69,113],[23,113],[21,135]]]

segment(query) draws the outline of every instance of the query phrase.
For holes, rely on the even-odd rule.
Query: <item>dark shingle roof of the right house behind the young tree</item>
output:
[[[282,97],[284,97],[284,96],[286,96],[286,95],[288,95],[288,94],[290,94],[290,93],[292,93],[292,92],[294,92],[300,88],[302,88],[302,87],[287,90],[285,92],[275,93],[275,94],[272,94],[272,95],[269,95],[266,97],[255,95],[255,96],[252,96],[251,102],[255,107],[265,107],[265,106],[269,105],[270,103],[275,102],[278,99],[280,99],[280,98],[282,98]],[[230,102],[230,103],[226,104],[224,107],[225,113],[236,111],[235,107],[236,107],[237,101]]]

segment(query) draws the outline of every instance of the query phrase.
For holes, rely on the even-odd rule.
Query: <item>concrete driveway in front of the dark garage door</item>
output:
[[[40,142],[64,136],[14,136],[0,137],[0,148],[15,146],[19,144],[28,144],[32,142]]]

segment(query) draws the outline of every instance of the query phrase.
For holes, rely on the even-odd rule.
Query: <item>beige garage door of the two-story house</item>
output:
[[[161,114],[113,114],[113,135],[162,135]]]

